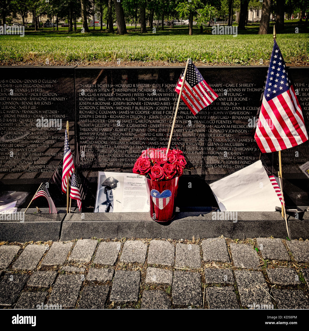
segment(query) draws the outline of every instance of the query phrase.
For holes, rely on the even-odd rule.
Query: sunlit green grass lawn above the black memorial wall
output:
[[[309,63],[309,27],[286,23],[284,34],[277,42],[287,65],[307,66]],[[272,24],[270,24],[272,30]],[[182,65],[188,57],[199,65],[268,65],[272,51],[271,34],[258,35],[258,24],[249,24],[237,36],[212,35],[211,28],[200,33],[194,27],[188,35],[187,26],[165,27],[140,34],[128,26],[128,34],[119,36],[100,32],[68,32],[67,28],[44,28],[35,32],[25,29],[25,36],[0,36],[1,65]],[[299,33],[295,33],[295,28]]]

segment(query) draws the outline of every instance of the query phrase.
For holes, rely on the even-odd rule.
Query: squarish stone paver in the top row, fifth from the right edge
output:
[[[176,245],[176,267],[187,268],[200,268],[201,267],[201,254],[199,245]]]

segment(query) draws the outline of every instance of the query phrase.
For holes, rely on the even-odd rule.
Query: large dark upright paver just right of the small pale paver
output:
[[[198,272],[174,271],[174,305],[202,306],[201,276]]]

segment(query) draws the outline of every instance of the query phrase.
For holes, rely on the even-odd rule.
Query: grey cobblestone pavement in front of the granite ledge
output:
[[[309,308],[309,241],[0,243],[1,308]]]

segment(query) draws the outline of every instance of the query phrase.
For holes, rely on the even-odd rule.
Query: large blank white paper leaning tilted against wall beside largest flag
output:
[[[210,187],[221,212],[273,212],[281,206],[260,160]]]

